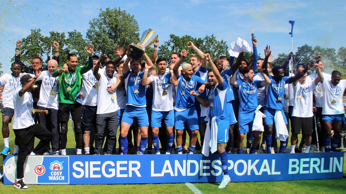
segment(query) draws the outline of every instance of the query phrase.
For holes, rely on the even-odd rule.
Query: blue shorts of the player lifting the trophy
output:
[[[126,105],[124,114],[122,114],[121,122],[132,125],[135,120],[137,120],[138,127],[148,127],[149,119],[147,109],[145,107]]]

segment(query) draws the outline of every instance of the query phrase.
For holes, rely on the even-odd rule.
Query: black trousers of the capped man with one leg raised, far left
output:
[[[40,142],[37,144],[33,152],[42,155],[52,139],[52,133],[40,124],[35,123],[33,126],[24,129],[13,129],[15,132],[15,144],[19,147],[17,159],[17,178],[24,177],[24,162],[29,154],[29,145],[34,139],[38,138]]]

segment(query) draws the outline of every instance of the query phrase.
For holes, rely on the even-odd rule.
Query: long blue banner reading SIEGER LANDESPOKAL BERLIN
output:
[[[17,156],[4,157],[4,184],[13,184]],[[228,155],[232,182],[343,177],[344,152]],[[27,184],[221,182],[219,155],[28,156]]]

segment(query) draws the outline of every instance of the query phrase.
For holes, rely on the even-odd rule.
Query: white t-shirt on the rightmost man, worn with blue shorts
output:
[[[340,80],[338,85],[331,84],[330,80],[323,79],[323,109],[322,114],[345,114],[343,94],[346,88],[346,80]],[[335,100],[335,103],[332,103]]]

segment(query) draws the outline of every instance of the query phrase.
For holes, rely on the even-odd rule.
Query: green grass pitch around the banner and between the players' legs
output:
[[[67,148],[74,148],[74,134],[69,122],[69,132],[67,134]],[[119,134],[118,134],[119,135]],[[10,148],[11,153],[14,147],[14,134],[12,125],[10,125]],[[300,137],[299,137],[300,138]],[[244,141],[246,138],[244,139]],[[38,140],[35,141],[38,143]],[[246,145],[246,143],[245,143]],[[2,148],[3,141],[0,141]],[[290,146],[290,143],[289,145]],[[229,155],[231,157],[231,155]],[[244,182],[244,183],[230,183],[225,189],[218,189],[219,183],[193,183],[193,184],[127,184],[127,185],[29,185],[30,190],[25,191],[28,193],[304,193],[304,194],[318,194],[318,193],[333,193],[345,194],[346,193],[346,162],[344,155],[344,178],[340,179],[321,179],[321,180],[304,180],[304,181],[277,181],[277,182]],[[2,163],[2,157],[0,162]],[[3,173],[2,165],[0,172]],[[232,178],[232,177],[231,177]],[[192,188],[192,190],[190,189]],[[190,187],[190,188],[189,188]],[[21,193],[13,188],[13,185],[0,185],[0,193]]]

